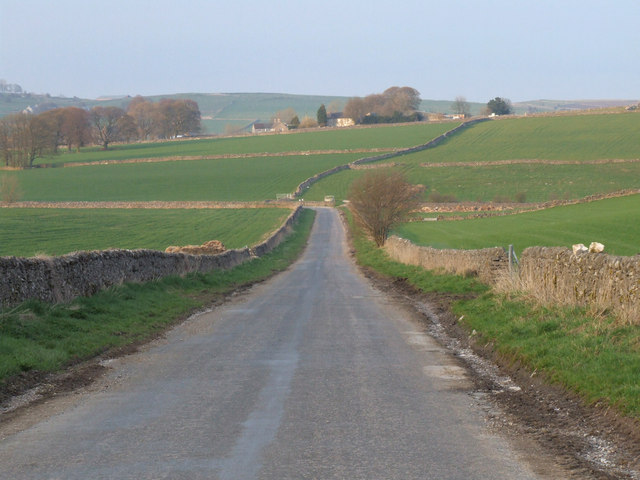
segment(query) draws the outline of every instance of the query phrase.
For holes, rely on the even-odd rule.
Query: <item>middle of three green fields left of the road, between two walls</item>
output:
[[[5,172],[33,201],[256,201],[361,154],[183,160]]]

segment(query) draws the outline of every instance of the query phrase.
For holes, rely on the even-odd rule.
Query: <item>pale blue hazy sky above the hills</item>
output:
[[[68,97],[639,99],[638,0],[0,0],[0,79]]]

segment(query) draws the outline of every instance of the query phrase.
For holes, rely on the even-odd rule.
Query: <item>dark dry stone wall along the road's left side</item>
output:
[[[296,208],[263,242],[218,255],[115,249],[46,258],[0,257],[0,305],[11,306],[29,299],[68,302],[125,282],[230,269],[278,246],[291,232],[301,211],[301,206]]]

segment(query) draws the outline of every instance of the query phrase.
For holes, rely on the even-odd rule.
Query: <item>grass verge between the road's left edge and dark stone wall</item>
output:
[[[226,271],[124,284],[67,304],[28,301],[0,311],[0,388],[26,371],[56,371],[110,348],[145,340],[194,309],[287,268],[306,245],[315,212],[268,255]]]

